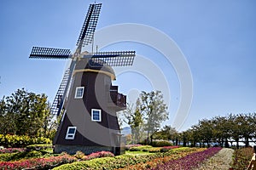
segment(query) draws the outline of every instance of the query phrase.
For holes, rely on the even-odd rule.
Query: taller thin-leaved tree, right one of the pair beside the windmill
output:
[[[167,106],[160,91],[140,94],[140,110],[145,116],[145,130],[147,136],[152,135],[160,128],[160,123],[168,119]]]

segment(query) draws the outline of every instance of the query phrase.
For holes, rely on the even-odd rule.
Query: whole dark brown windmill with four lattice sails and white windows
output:
[[[51,108],[53,114],[61,115],[55,153],[122,152],[116,112],[125,110],[126,96],[112,85],[112,66],[132,65],[135,52],[82,53],[82,47],[93,40],[101,7],[102,3],[90,4],[74,54],[69,49],[39,47],[30,54],[34,59],[72,59]]]

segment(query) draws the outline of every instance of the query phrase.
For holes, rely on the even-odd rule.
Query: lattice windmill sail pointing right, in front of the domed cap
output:
[[[127,66],[133,64],[135,51],[99,52],[85,54],[83,57],[91,58],[90,65]]]

